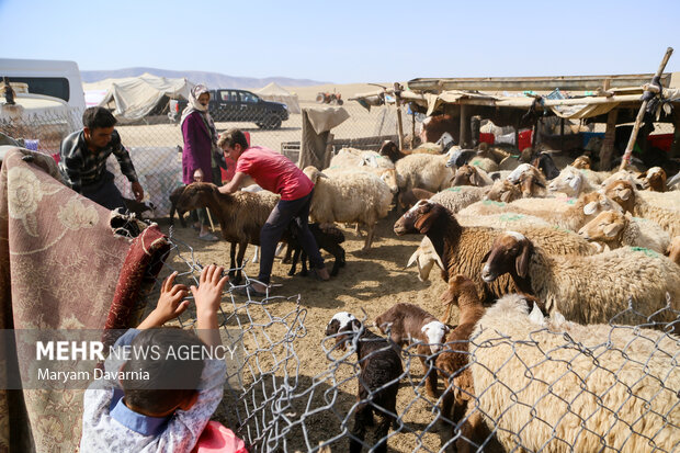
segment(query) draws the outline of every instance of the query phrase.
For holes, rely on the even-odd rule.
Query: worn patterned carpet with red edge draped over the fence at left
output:
[[[169,249],[165,236],[156,225],[134,239],[114,234],[110,211],[50,177],[52,157],[25,161],[27,152],[10,149],[0,171],[0,329],[128,327]],[[0,346],[0,382],[35,360],[24,355]],[[0,389],[0,452],[75,451],[82,393]]]

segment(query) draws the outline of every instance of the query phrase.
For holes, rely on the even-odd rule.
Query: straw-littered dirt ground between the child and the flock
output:
[[[314,392],[291,401],[291,410],[286,414],[291,412],[288,416],[295,419],[296,417],[299,418],[302,414],[310,414],[314,409],[326,408],[319,414],[309,415],[305,419],[304,430],[297,426],[285,434],[285,443],[281,441],[276,450],[286,452],[307,451],[307,445],[314,448],[319,441],[339,435],[341,419],[347,416],[355,403],[356,380],[352,377],[351,366],[338,366],[337,372],[332,373],[336,365],[327,359],[321,346],[326,325],[336,313],[350,312],[362,318],[365,312],[367,320],[372,322],[377,315],[399,302],[417,304],[435,316],[443,313],[440,294],[444,291],[445,285],[439,275],[439,271],[434,269],[431,281],[422,283],[418,280],[415,268],[404,269],[408,258],[420,242],[421,236],[397,237],[393,231],[393,225],[397,218],[393,211],[387,218],[379,222],[373,247],[365,252],[360,250],[363,246],[363,238],[356,236],[353,228],[342,227],[345,235],[343,247],[347,251],[347,267],[340,270],[338,276],[328,282],[319,282],[313,278],[298,275],[288,276],[290,265],[282,264],[279,259],[274,262],[272,283],[281,286],[276,286],[272,294],[275,296],[299,295],[299,306],[305,327],[305,331],[301,333],[304,337],[294,340],[294,350],[298,362],[292,361],[292,366],[279,367],[274,374],[283,374],[284,369],[288,373],[297,373],[296,394],[304,393],[305,388],[314,387]],[[168,233],[167,220],[159,220],[159,224],[161,229]],[[179,227],[178,222],[175,225]],[[195,260],[202,264],[215,262],[228,265],[227,242],[222,240],[218,242],[201,241],[196,239],[196,233],[192,228],[174,228],[173,237],[178,244],[185,242],[191,246],[194,249]],[[246,257],[252,258],[252,247],[249,248]],[[168,261],[169,265],[163,269],[161,276],[167,275],[170,268],[186,269],[183,261],[185,258],[186,253],[182,257],[175,252],[171,253]],[[328,254],[324,254],[324,258],[327,265],[330,267],[333,258]],[[257,276],[259,264],[252,262],[248,262],[245,267],[246,273],[252,278]],[[226,313],[234,313],[234,307],[245,299],[246,297],[240,295],[235,296],[235,299],[227,296],[223,309]],[[257,307],[263,309],[252,309]],[[286,314],[294,312],[295,307],[296,297],[290,299],[275,298],[267,302],[263,307],[260,305],[251,306],[251,309],[247,310],[248,316],[240,317],[240,322],[245,326],[243,329],[248,329],[248,322],[252,322],[253,326],[267,325],[272,316],[285,317]],[[241,314],[243,313],[241,312]],[[272,333],[269,332],[268,335]],[[283,335],[283,330],[280,329],[275,335]],[[254,344],[257,336],[245,338],[243,342],[247,350],[251,351],[252,348],[267,350],[267,347],[260,343],[263,336],[263,333],[260,335],[257,346]],[[330,342],[325,344],[329,350]],[[264,353],[258,356],[258,360],[261,361],[258,363],[260,370],[267,370],[275,362],[276,359],[268,358],[269,355]],[[340,356],[340,353],[333,352],[332,355],[337,358]],[[354,361],[355,355],[347,359],[347,362]],[[434,420],[431,412],[432,401],[426,396],[424,389],[418,389],[421,396],[418,396],[413,389],[413,386],[419,385],[422,377],[420,363],[412,363],[411,369],[416,381],[403,380],[398,395],[397,409],[404,421],[404,427],[400,429],[400,433],[390,438],[388,445],[393,451],[438,451],[440,449],[439,428],[437,426],[429,427]],[[249,373],[243,374],[245,381],[251,378]],[[267,385],[267,392],[272,392],[272,385]],[[329,396],[335,395],[333,392],[329,392],[333,386],[338,388],[335,401]],[[441,388],[443,386],[440,382]],[[225,401],[217,415],[227,424],[234,426],[237,423],[237,419],[230,404],[234,404],[233,400],[225,396]],[[251,420],[248,424],[253,423],[254,420]],[[353,426],[352,419],[348,426],[350,428]],[[428,432],[423,434],[423,431]],[[390,433],[394,434],[394,429]],[[371,431],[369,431],[366,439],[371,439]],[[347,439],[338,440],[331,448],[333,451],[345,451]]]

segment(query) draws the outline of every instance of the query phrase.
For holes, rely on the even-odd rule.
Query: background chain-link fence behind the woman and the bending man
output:
[[[305,104],[303,107],[318,107],[318,104]],[[344,146],[376,148],[384,139],[396,139],[397,115],[394,105],[365,110],[354,102],[342,106],[350,117],[331,131],[335,136],[332,146],[336,150]],[[405,134],[413,131],[413,116],[403,109]],[[57,157],[60,140],[73,131],[82,127],[72,121],[81,117],[82,112],[44,113],[39,116],[29,115],[21,118],[0,118],[0,132],[23,139],[24,146]],[[220,118],[225,120],[225,113]],[[302,139],[302,115],[292,114],[276,129],[258,127],[254,123],[218,121],[215,123],[218,133],[239,127],[250,133],[253,145],[265,146],[286,154],[295,159]],[[123,145],[129,151],[133,163],[144,188],[147,201],[155,206],[151,217],[162,217],[170,212],[168,195],[182,184],[182,131],[179,122],[168,115],[148,116],[135,124],[118,124],[116,131]],[[366,145],[371,144],[371,145]],[[115,182],[123,196],[134,199],[129,182],[121,174],[120,167],[111,156],[107,168],[115,175]]]

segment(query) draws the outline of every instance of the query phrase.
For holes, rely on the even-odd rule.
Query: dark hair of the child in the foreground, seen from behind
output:
[[[139,332],[131,343],[131,359],[120,380],[125,401],[162,414],[191,398],[201,384],[204,361],[200,353],[192,356],[190,352],[201,348],[207,347],[186,330],[159,328]],[[148,373],[148,380],[144,378],[144,372]]]

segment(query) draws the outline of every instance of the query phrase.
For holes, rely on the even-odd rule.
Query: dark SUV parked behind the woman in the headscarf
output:
[[[288,118],[288,106],[281,102],[264,101],[246,90],[209,90],[208,113],[215,122],[252,122],[264,129],[277,129]],[[185,100],[170,100],[171,121],[178,122],[186,106]]]

